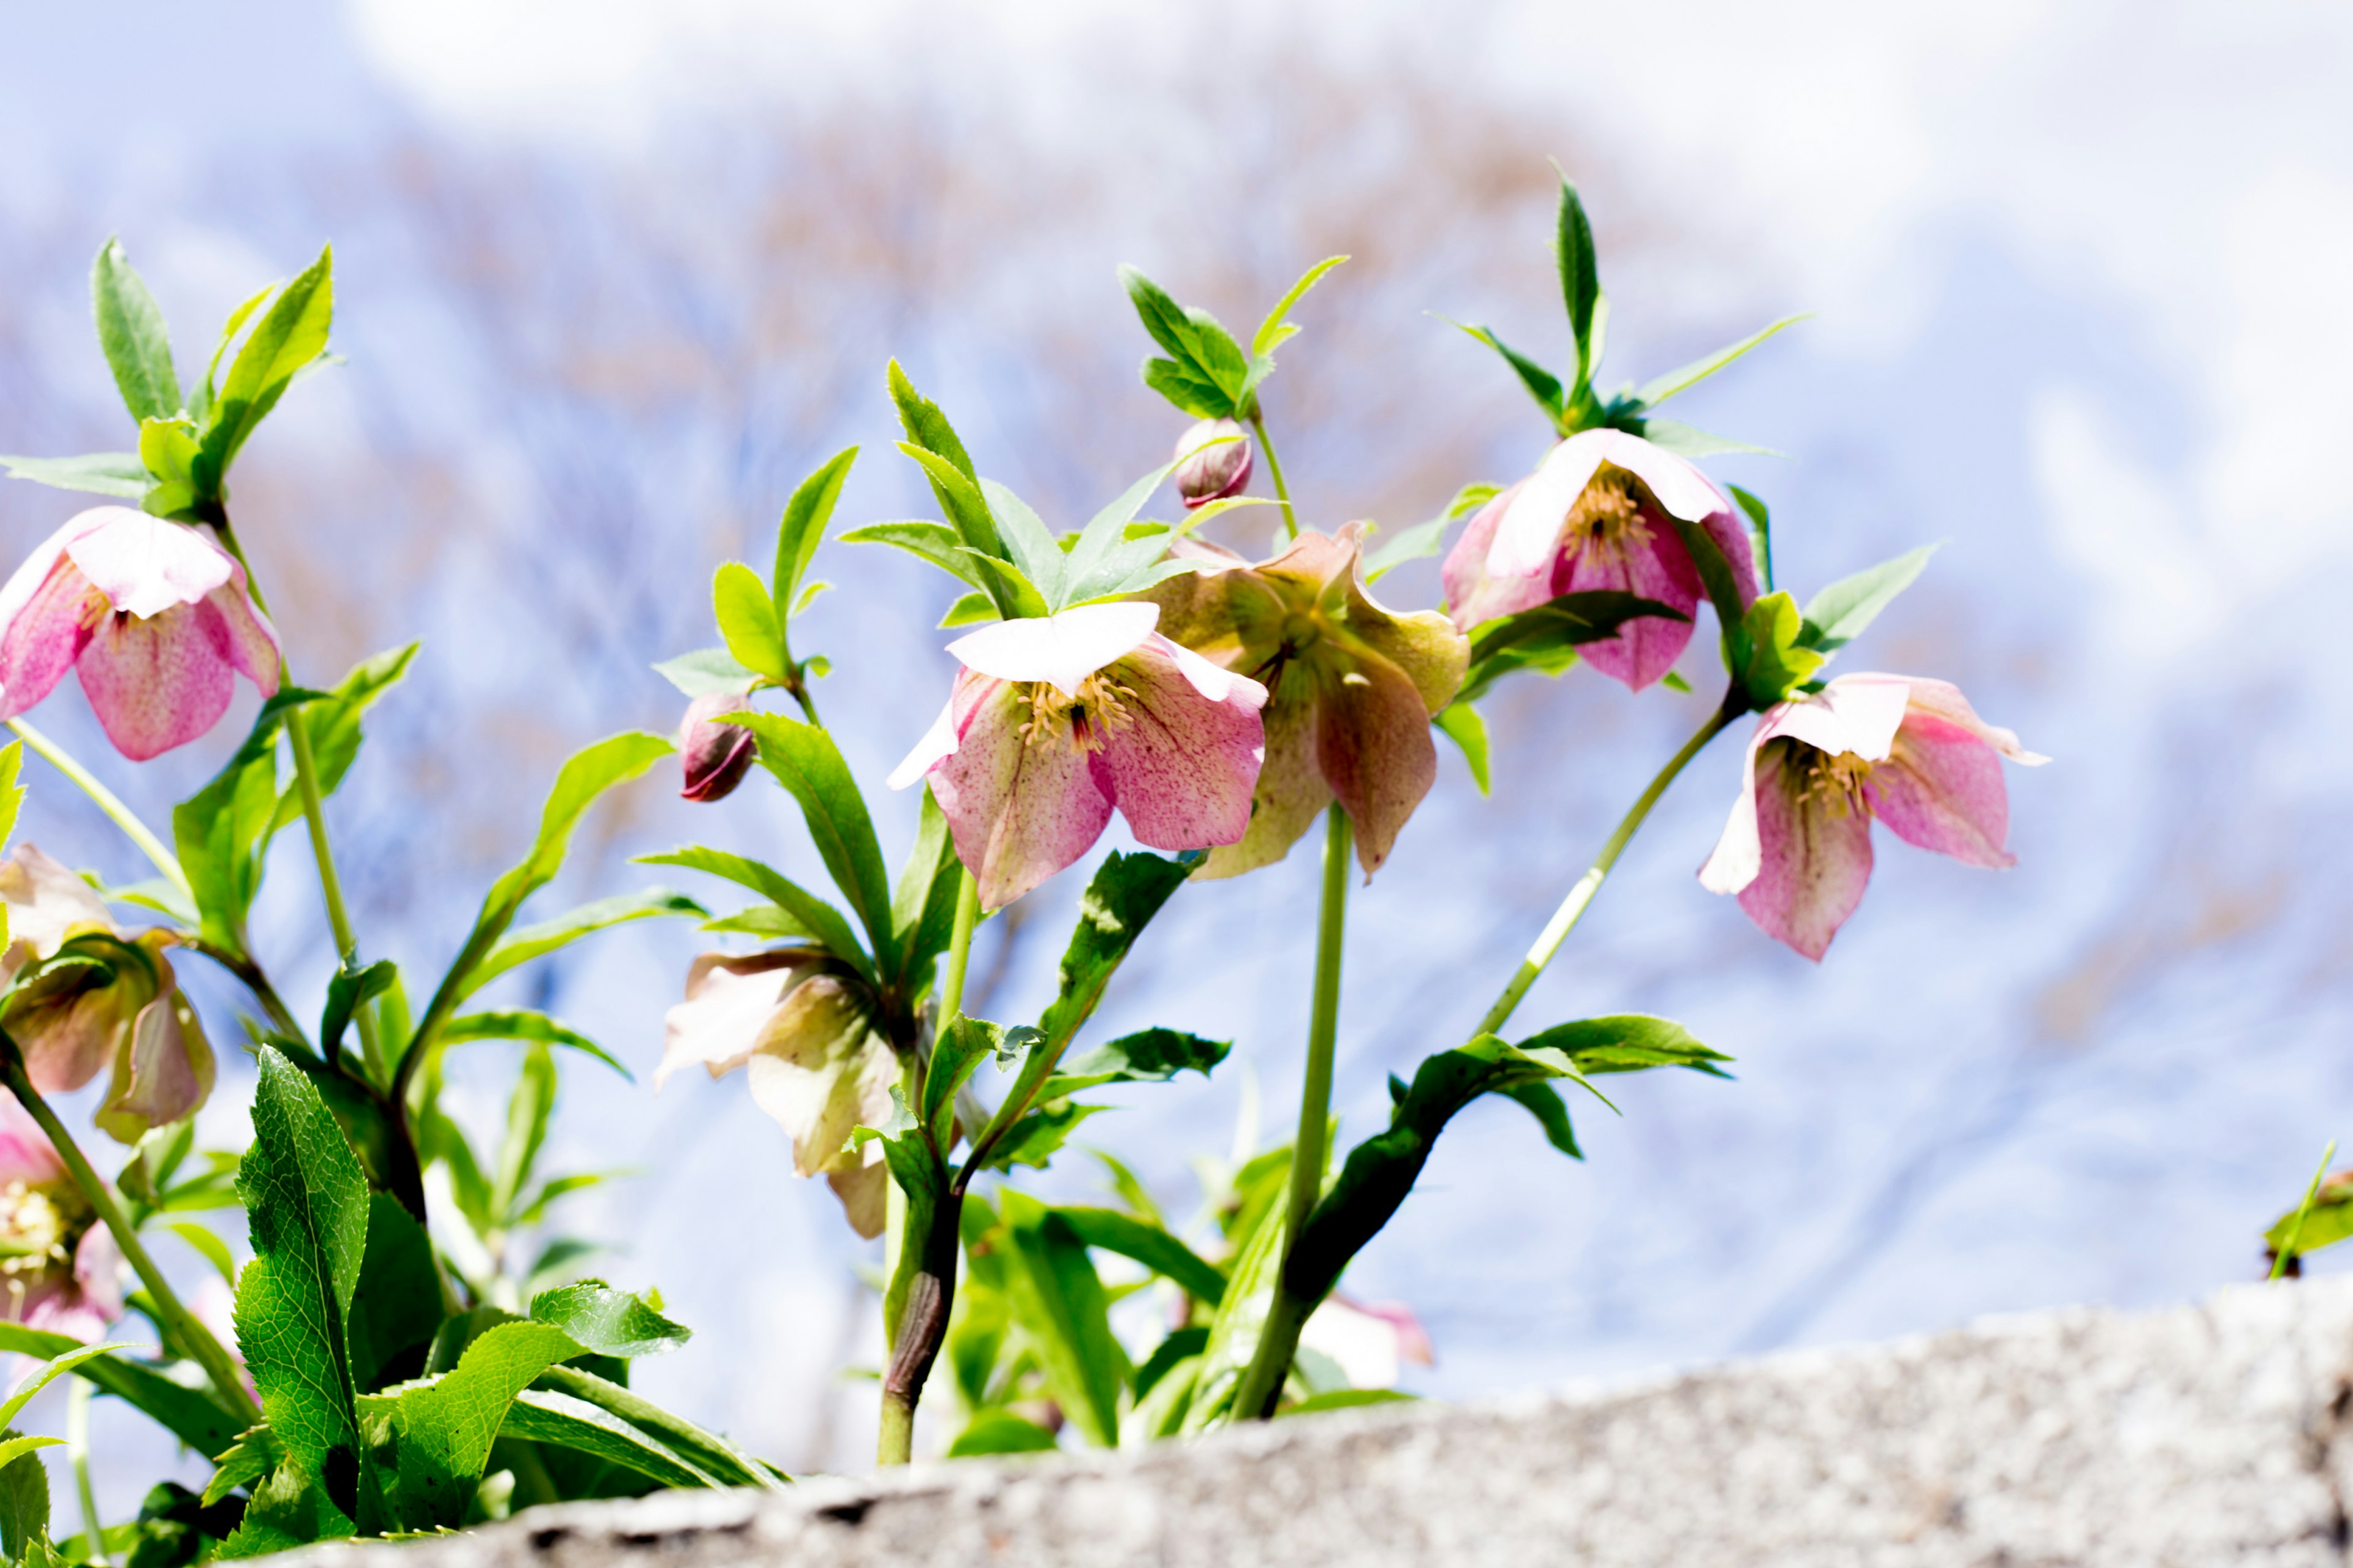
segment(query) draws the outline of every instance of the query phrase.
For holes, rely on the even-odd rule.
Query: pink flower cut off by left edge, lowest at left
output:
[[[40,1124],[0,1095],[0,1316],[89,1342],[122,1316],[122,1253]]]

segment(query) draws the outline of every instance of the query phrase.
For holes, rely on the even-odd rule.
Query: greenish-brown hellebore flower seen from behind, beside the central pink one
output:
[[[1438,778],[1431,715],[1461,686],[1471,642],[1433,609],[1400,616],[1374,602],[1362,541],[1365,524],[1351,522],[1252,567],[1188,538],[1172,552],[1200,571],[1144,595],[1169,637],[1268,691],[1249,832],[1212,851],[1202,877],[1280,860],[1334,797],[1369,877]]]

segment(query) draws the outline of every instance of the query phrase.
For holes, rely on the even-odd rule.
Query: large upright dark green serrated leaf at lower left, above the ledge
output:
[[[254,1143],[238,1164],[254,1260],[238,1281],[238,1347],[287,1462],[372,1526],[346,1324],[367,1251],[360,1161],[311,1079],[271,1046],[256,1051]]]

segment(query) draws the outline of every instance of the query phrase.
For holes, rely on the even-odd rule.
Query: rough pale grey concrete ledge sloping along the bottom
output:
[[[2353,1281],[2306,1281],[1146,1453],[532,1509],[332,1563],[2289,1568],[2348,1561],[2348,1410]]]

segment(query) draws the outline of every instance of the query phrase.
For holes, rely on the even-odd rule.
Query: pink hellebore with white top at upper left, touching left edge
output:
[[[235,675],[278,691],[278,632],[245,567],[184,522],[80,512],[0,588],[0,719],[78,670],[106,738],[146,762],[212,729]]]

